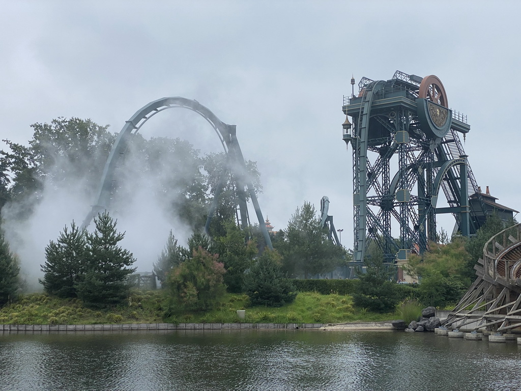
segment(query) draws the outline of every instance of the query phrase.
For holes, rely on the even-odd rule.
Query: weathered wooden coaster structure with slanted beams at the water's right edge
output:
[[[521,224],[506,228],[483,247],[478,278],[443,322],[446,327],[512,332],[521,328]]]

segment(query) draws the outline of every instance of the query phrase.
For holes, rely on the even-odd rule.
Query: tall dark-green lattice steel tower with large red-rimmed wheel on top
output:
[[[353,151],[354,261],[364,260],[368,237],[386,262],[424,252],[439,213],[452,213],[462,235],[475,233],[486,210],[459,137],[470,126],[449,108],[441,81],[396,71],[358,87],[342,107],[343,140]],[[440,189],[448,207],[437,207]],[[478,202],[469,203],[469,192]]]

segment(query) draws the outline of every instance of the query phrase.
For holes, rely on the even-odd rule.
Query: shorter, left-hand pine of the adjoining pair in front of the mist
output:
[[[70,230],[65,226],[56,242],[45,248],[45,263],[40,265],[44,272],[39,279],[48,294],[58,297],[77,297],[75,284],[85,267],[87,248],[85,233],[72,222]]]

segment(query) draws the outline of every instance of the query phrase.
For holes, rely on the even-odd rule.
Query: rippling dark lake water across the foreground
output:
[[[433,333],[0,334],[2,390],[521,390],[521,346]]]

